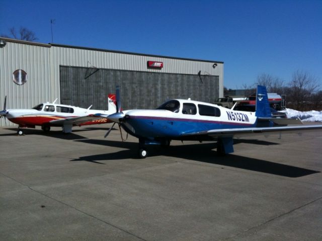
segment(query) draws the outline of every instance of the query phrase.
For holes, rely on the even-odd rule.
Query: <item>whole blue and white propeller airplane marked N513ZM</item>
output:
[[[303,125],[300,119],[273,118],[265,86],[258,86],[256,111],[237,111],[216,104],[172,99],[157,109],[121,111],[119,88],[116,89],[117,112],[97,114],[117,123],[139,139],[139,157],[148,153],[146,145],[170,145],[171,140],[217,141],[218,155],[233,152],[233,138],[270,133],[302,133],[322,130],[322,125]],[[286,126],[300,124],[300,126]],[[112,126],[112,128],[113,128]],[[108,136],[112,128],[105,135]]]

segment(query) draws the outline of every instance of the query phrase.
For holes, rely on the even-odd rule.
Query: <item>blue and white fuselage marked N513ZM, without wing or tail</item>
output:
[[[176,99],[174,109],[123,111],[122,127],[138,138],[183,140],[183,134],[256,126],[254,112],[235,111],[215,104]],[[194,138],[195,140],[195,138]]]

